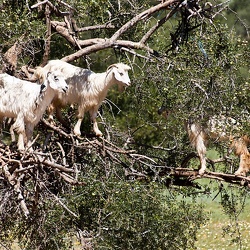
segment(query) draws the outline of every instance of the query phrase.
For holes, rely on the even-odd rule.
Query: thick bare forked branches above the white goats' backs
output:
[[[224,9],[225,5],[222,3],[220,6],[213,6],[210,3],[202,4],[201,1],[188,1],[186,3],[182,0],[167,0],[162,1],[159,4],[151,6],[149,9],[135,15],[131,20],[124,23],[120,28],[115,30],[115,25],[113,25],[112,18],[110,21],[105,24],[95,25],[95,26],[87,26],[87,27],[78,27],[76,21],[74,19],[74,11],[71,6],[68,6],[66,3],[60,1],[59,6],[54,6],[50,1],[39,2],[36,5],[33,5],[31,8],[35,9],[41,6],[45,7],[46,14],[46,23],[51,24],[52,30],[60,34],[64,37],[69,44],[74,46],[77,51],[71,55],[67,55],[62,58],[63,61],[71,62],[82,56],[86,56],[88,54],[108,49],[115,48],[122,51],[126,51],[131,53],[132,55],[136,55],[141,58],[147,58],[147,60],[151,57],[158,57],[159,53],[155,51],[153,48],[147,45],[148,40],[151,36],[166,23],[175,13],[179,12],[181,14],[180,27],[182,27],[181,31],[177,28],[176,33],[173,35],[173,41],[171,49],[176,49],[178,46],[185,42],[185,37],[187,37],[190,30],[198,27],[205,20],[209,20],[212,22],[213,18],[220,13],[220,9]],[[60,7],[68,8],[68,11],[61,11]],[[50,8],[50,13],[54,13],[57,17],[61,17],[64,21],[55,21],[52,20],[52,16],[49,15],[48,8]],[[141,37],[138,41],[129,41],[129,40],[121,40],[119,39],[122,35],[126,34],[131,28],[135,27],[140,22],[145,22],[145,20],[149,20],[155,13],[159,13],[164,10],[166,15],[161,17],[159,20],[156,20],[156,23],[149,27],[148,31]],[[160,15],[159,15],[160,16]],[[196,20],[194,24],[192,24],[192,19]],[[185,24],[185,25],[183,25]],[[185,27],[185,30],[183,30]],[[106,38],[92,38],[87,40],[81,40],[77,33],[86,32],[89,30],[97,30],[97,29],[114,29],[113,35]],[[50,28],[47,27],[47,34],[50,34]],[[183,37],[185,36],[185,37]],[[49,41],[48,41],[49,43]],[[49,45],[48,45],[49,46]],[[48,49],[47,46],[47,49]],[[135,50],[145,51],[148,56],[146,57],[143,54],[135,52]],[[47,52],[45,51],[45,54]],[[46,56],[46,55],[45,55]]]

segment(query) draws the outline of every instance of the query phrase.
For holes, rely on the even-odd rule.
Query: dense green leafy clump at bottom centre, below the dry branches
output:
[[[73,200],[77,224],[96,235],[96,249],[192,248],[202,207],[164,190],[157,183],[89,181]]]

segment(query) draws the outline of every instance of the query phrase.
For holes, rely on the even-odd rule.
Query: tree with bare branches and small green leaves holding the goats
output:
[[[122,60],[133,66],[136,84],[119,98],[111,91],[116,106],[103,105],[106,138],[91,137],[88,126],[88,136],[76,138],[44,120],[33,154],[1,144],[1,244],[18,238],[26,249],[67,249],[77,232],[85,249],[140,249],[145,241],[151,249],[171,249],[170,242],[172,249],[192,248],[205,218],[192,195],[200,186],[176,177],[191,152],[183,121],[248,111],[249,46],[217,23],[226,4],[18,3],[3,1],[0,8],[4,71],[27,78],[49,58],[98,71]],[[173,110],[167,123],[156,114],[162,103]],[[248,181],[236,181],[242,180]],[[173,184],[189,187],[166,189]]]

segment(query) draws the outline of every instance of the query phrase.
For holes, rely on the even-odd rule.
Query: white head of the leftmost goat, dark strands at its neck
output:
[[[44,81],[44,89],[47,88],[46,84],[49,84],[49,86],[57,90],[59,92],[67,92],[68,90],[68,85],[64,80],[64,77],[61,72],[59,71],[53,71],[53,72],[48,72],[46,79]]]

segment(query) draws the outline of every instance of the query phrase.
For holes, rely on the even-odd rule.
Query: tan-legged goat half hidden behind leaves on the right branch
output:
[[[163,106],[158,110],[158,114],[168,118],[169,111]],[[235,119],[226,116],[211,117],[206,126],[190,121],[185,122],[190,143],[196,149],[200,160],[200,175],[204,175],[206,171],[207,143],[214,139],[231,142],[230,147],[240,158],[239,168],[234,174],[246,176],[250,170],[250,153],[247,148],[250,138],[240,135],[238,126]]]

